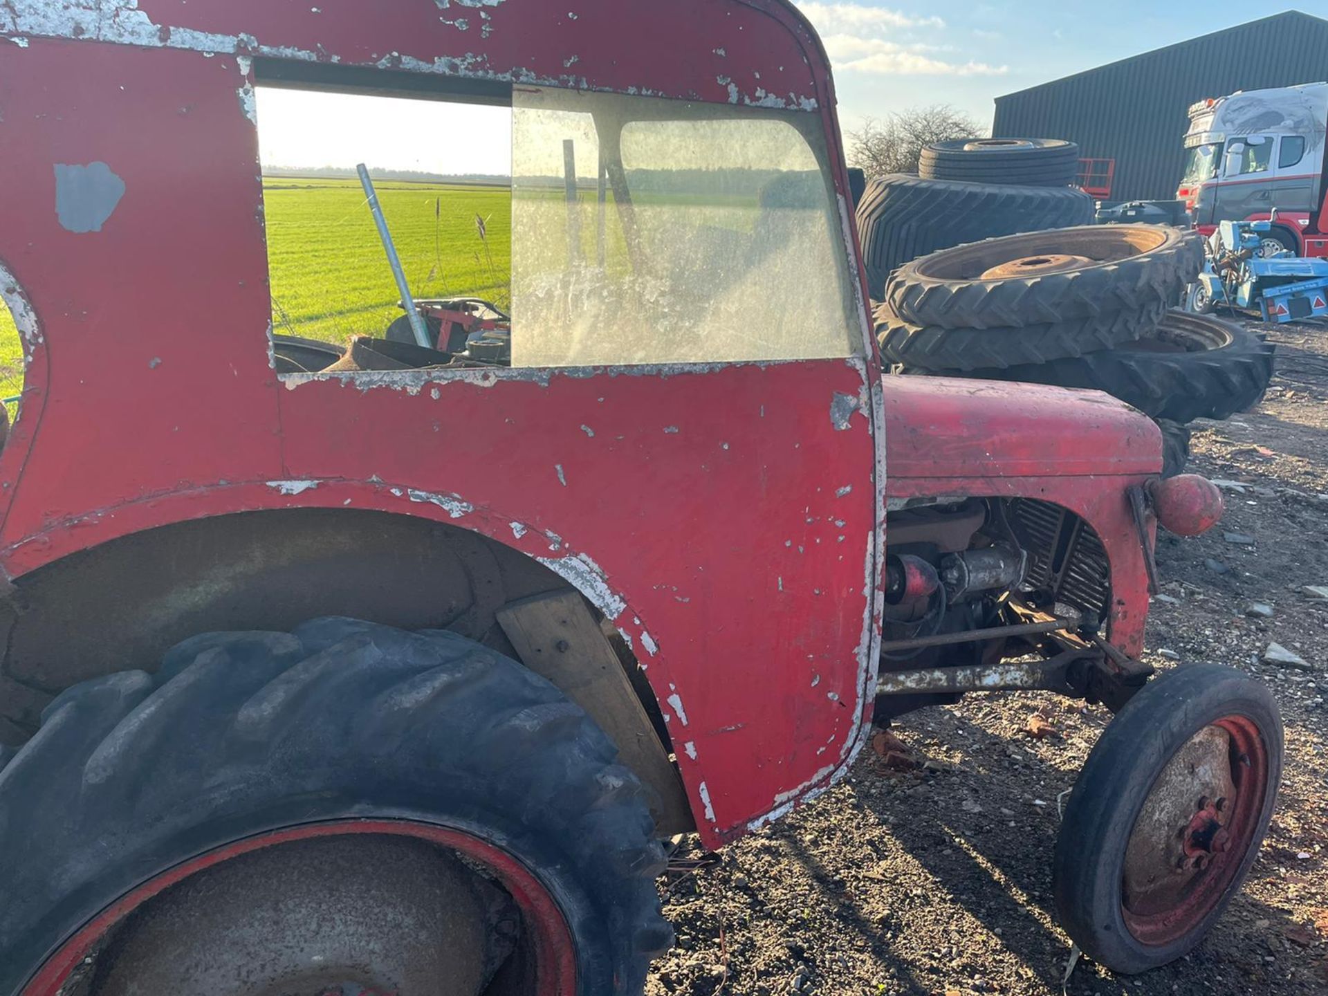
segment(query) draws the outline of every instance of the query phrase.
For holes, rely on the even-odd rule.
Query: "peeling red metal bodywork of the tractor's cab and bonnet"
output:
[[[632,643],[705,845],[846,772],[880,639],[886,397],[827,60],[801,15],[784,0],[583,0],[575,16],[543,0],[380,3],[372,16],[356,0],[109,5],[0,5],[0,37],[21,40],[0,44],[0,290],[16,288],[28,353],[0,453],[4,575],[244,511],[446,522],[546,563]],[[649,44],[624,57],[628,39]],[[861,355],[283,382],[259,58],[817,116],[858,271]],[[54,210],[53,167],[69,163],[106,163],[124,182],[98,231],[76,234]],[[1027,396],[993,390],[891,380],[906,440],[891,441],[891,495],[1036,494],[1080,511],[1112,556],[1113,639],[1135,652],[1146,575],[1123,491],[1158,469],[1155,428],[1134,418],[1127,438],[1086,449],[1101,413],[1060,405],[1045,426],[1061,429],[1038,440],[1013,428]],[[993,425],[1005,428],[979,440]],[[1021,438],[1038,446],[999,458]],[[1118,450],[1129,459],[1113,462]]]

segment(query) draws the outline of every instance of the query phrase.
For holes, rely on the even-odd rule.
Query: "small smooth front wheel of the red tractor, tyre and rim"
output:
[[[1127,975],[1193,950],[1240,891],[1282,768],[1282,718],[1262,683],[1195,664],[1145,685],[1065,805],[1052,863],[1065,932]]]

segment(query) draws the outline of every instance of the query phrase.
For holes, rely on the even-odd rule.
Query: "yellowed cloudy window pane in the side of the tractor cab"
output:
[[[513,365],[862,351],[821,120],[518,88]]]

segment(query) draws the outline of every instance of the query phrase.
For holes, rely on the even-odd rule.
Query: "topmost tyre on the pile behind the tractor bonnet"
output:
[[[956,138],[923,146],[918,175],[969,183],[1068,187],[1078,177],[1078,146],[1060,138]]]

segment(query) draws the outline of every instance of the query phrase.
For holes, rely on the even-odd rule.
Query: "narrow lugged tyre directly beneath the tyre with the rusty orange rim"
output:
[[[1040,325],[943,328],[904,321],[888,304],[880,304],[875,325],[882,361],[899,365],[900,373],[1027,380],[1007,376],[1008,369],[1003,368],[1037,369],[1053,360],[1130,343],[1151,331],[1165,312],[1166,305],[1158,301],[1137,311],[1104,312]]]

